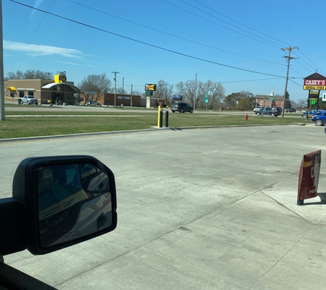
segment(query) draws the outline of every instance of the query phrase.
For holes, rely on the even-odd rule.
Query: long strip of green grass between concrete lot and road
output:
[[[5,120],[0,121],[0,139],[150,129],[152,126],[157,126],[157,119],[156,110],[150,113],[148,111],[146,113],[124,112],[123,110],[108,112],[105,109],[94,110],[94,112],[10,111],[5,113]],[[244,115],[215,115],[206,112],[169,113],[169,127],[296,124],[299,122],[303,120],[297,117],[249,116],[248,121],[245,121]],[[163,113],[163,126],[165,126],[165,113]]]

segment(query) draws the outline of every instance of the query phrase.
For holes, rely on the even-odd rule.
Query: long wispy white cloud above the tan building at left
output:
[[[49,45],[35,45],[27,43],[19,43],[14,41],[3,41],[3,49],[14,50],[16,52],[25,52],[30,56],[47,56],[57,54],[72,58],[82,58],[82,52],[77,49],[55,47]]]

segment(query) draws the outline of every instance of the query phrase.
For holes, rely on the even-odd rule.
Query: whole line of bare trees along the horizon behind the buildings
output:
[[[24,80],[24,79],[47,79],[51,80],[54,76],[39,70],[27,70],[9,72],[4,78],[8,80]],[[116,93],[129,94],[123,87],[113,86],[111,80],[103,74],[90,74],[85,76],[77,85],[81,91],[93,93],[93,100],[98,100],[101,93]],[[133,95],[140,95],[145,97],[145,92],[132,91]],[[256,106],[256,97],[249,91],[240,91],[231,93],[225,96],[225,89],[220,82],[196,82],[196,80],[187,80],[185,82],[178,82],[176,85],[159,80],[156,83],[156,91],[153,92],[153,98],[163,99],[166,105],[174,102],[174,96],[182,96],[183,102],[187,102],[194,107],[194,109],[237,109],[237,110],[251,110]],[[276,95],[275,98],[282,98]],[[286,98],[290,98],[286,92]],[[205,102],[205,100],[208,102]],[[300,100],[298,103],[290,102],[290,107],[297,107],[300,109],[305,107],[306,101]]]

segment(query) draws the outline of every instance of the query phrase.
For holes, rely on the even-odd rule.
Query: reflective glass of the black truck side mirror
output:
[[[106,172],[93,164],[45,166],[36,171],[42,247],[110,227],[112,205]]]

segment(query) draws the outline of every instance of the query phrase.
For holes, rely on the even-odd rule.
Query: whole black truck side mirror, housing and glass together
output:
[[[22,249],[34,255],[47,254],[106,234],[117,226],[115,177],[91,156],[24,159],[14,174],[12,199],[7,203],[12,216],[18,215],[7,230],[10,228],[21,241],[5,254]],[[10,218],[7,221],[11,223]],[[17,234],[15,227],[23,232]],[[0,253],[1,247],[0,241]]]

